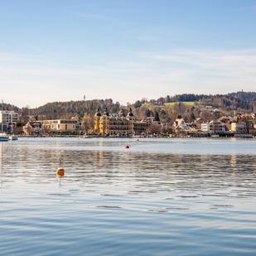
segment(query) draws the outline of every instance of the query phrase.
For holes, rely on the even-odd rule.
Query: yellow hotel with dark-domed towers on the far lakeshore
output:
[[[128,115],[120,113],[109,115],[108,109],[104,110],[104,114],[99,113],[99,109],[94,115],[94,133],[100,135],[118,135],[132,136],[133,134],[146,134],[151,123],[136,121],[132,109],[129,109]]]

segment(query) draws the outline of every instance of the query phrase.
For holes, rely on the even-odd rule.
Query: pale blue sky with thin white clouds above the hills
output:
[[[1,99],[255,91],[255,27],[255,0],[0,0]]]

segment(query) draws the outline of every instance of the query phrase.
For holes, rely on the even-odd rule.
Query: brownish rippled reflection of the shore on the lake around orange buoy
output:
[[[72,182],[73,185],[86,179],[90,185],[131,187],[128,193],[178,190],[204,194],[215,191],[217,194],[229,188],[229,195],[225,196],[237,196],[235,191],[230,191],[232,187],[255,189],[254,155],[113,151],[102,149],[103,142],[99,144],[100,150],[70,150],[66,144],[58,145],[58,149],[54,147],[54,150],[52,147],[37,147],[37,144],[37,148],[31,147],[31,144],[7,147],[5,153],[9,157],[0,158],[1,163],[3,161],[2,171],[8,176],[8,171],[12,169],[16,176],[28,182],[52,182],[61,158],[65,182]],[[2,147],[0,150],[2,152]]]

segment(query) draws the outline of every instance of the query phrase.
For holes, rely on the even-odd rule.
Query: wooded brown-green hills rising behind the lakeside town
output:
[[[182,104],[182,103],[190,104]],[[170,104],[176,103],[176,104]],[[191,104],[192,103],[192,104]],[[167,95],[159,99],[141,99],[134,104],[122,106],[112,99],[94,99],[80,100],[68,102],[52,102],[45,104],[37,109],[30,109],[28,106],[22,109],[11,104],[3,104],[3,109],[18,111],[21,118],[19,125],[27,123],[29,118],[34,120],[40,119],[56,119],[56,118],[79,118],[85,116],[93,118],[97,109],[101,113],[105,108],[109,109],[109,114],[116,113],[124,109],[124,114],[128,113],[128,109],[133,109],[136,118],[156,118],[158,115],[161,120],[175,119],[177,115],[182,115],[186,120],[192,121],[195,118],[212,118],[207,116],[204,108],[212,107],[219,109],[220,112],[236,111],[236,113],[256,112],[256,93],[254,92],[237,92],[232,94],[176,94],[174,96]]]

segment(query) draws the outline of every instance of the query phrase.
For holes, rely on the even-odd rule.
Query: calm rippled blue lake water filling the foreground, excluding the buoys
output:
[[[20,138],[0,182],[1,255],[256,255],[253,139]]]

